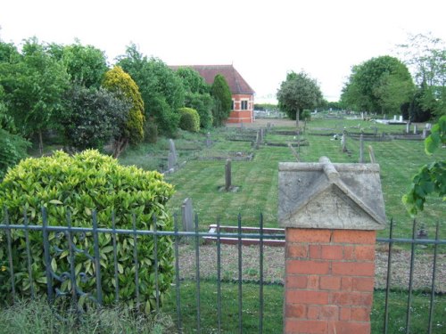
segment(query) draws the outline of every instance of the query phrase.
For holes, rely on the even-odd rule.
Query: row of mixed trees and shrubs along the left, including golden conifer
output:
[[[222,125],[230,106],[225,77],[208,85],[193,69],[169,69],[133,44],[110,67],[103,51],[79,41],[32,37],[19,50],[0,39],[0,178],[27,155],[29,141],[43,154],[49,133],[60,134],[66,151],[111,143],[118,157],[128,145],[175,134],[182,108],[196,110],[208,128]]]

